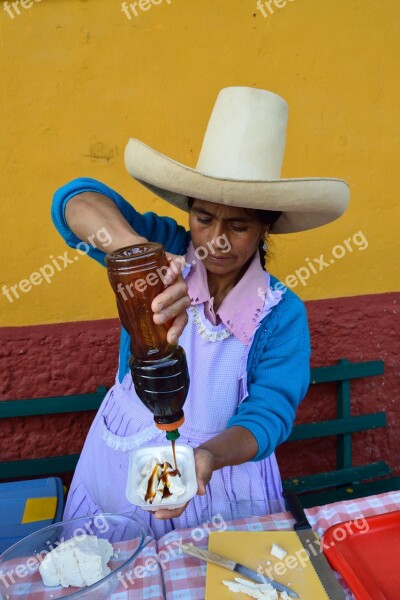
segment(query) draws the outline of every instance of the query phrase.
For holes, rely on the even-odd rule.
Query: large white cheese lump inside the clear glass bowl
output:
[[[76,536],[47,554],[39,567],[45,586],[85,587],[109,573],[107,566],[114,549],[95,535]]]

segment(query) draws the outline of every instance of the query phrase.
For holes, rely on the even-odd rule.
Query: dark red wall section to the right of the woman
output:
[[[383,429],[353,434],[353,462],[384,460],[400,474],[400,294],[374,294],[306,303],[311,330],[311,366],[383,360],[385,373],[351,383],[352,414],[385,411]],[[334,384],[311,386],[297,423],[335,416]],[[290,442],[277,451],[283,477],[335,468],[335,438]]]

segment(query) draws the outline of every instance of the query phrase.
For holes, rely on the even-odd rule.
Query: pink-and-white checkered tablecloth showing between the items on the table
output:
[[[365,518],[382,513],[400,510],[400,491],[387,492],[357,500],[346,500],[324,506],[306,509],[307,517],[313,530],[321,536],[331,525],[349,519]],[[132,579],[132,584],[126,582],[125,588],[120,586],[111,600],[204,600],[206,564],[200,564],[180,551],[182,543],[207,547],[208,532],[215,531],[221,521],[214,521],[214,526],[209,523],[196,529],[181,529],[171,531],[161,538],[156,545],[145,548],[141,557],[141,564],[151,557],[158,558],[157,569],[143,569],[143,576]],[[275,513],[264,517],[249,517],[226,523],[225,530],[231,531],[269,531],[274,529],[293,528],[294,519],[290,513]],[[153,560],[154,562],[154,560]],[[353,599],[353,595],[346,587],[344,581],[337,576],[342,584],[346,598]],[[128,586],[128,589],[126,589]]]

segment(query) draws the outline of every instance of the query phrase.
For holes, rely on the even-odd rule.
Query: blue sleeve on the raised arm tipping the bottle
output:
[[[102,252],[87,240],[80,240],[69,228],[65,220],[65,207],[67,202],[82,192],[97,192],[113,200],[118,206],[122,215],[131,225],[131,227],[140,236],[147,238],[152,242],[163,244],[168,252],[173,254],[185,254],[190,241],[190,234],[184,227],[178,225],[170,217],[159,217],[155,213],[138,213],[131,204],[129,204],[117,192],[109,188],[104,183],[89,177],[80,177],[70,183],[62,186],[56,191],[53,197],[51,207],[51,217],[53,223],[71,248],[81,249],[87,254],[104,265],[105,252]],[[94,234],[96,232],[93,232]],[[95,241],[95,239],[94,239]]]

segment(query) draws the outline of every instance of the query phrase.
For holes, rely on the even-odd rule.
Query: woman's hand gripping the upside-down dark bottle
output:
[[[168,287],[154,298],[151,308],[154,312],[154,323],[157,325],[173,319],[167,340],[170,344],[176,344],[188,321],[186,309],[190,306],[190,298],[181,274],[185,258],[168,252],[166,254],[171,263],[164,278]]]

